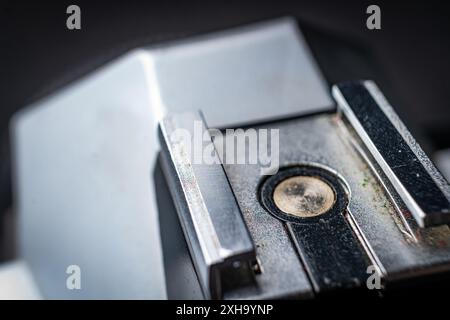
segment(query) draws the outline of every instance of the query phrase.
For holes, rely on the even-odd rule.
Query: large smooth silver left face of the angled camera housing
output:
[[[144,59],[130,54],[13,119],[19,255],[44,299],[166,296]],[[81,290],[66,287],[69,265]]]

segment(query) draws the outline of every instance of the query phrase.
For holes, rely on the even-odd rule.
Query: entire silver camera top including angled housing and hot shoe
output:
[[[448,183],[374,82],[325,82],[291,18],[132,51],[11,128],[43,297],[378,296],[450,269]]]

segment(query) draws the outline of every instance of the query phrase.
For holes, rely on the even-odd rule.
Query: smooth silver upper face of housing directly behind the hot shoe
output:
[[[334,109],[294,19],[256,23],[150,49],[158,99],[226,128]]]

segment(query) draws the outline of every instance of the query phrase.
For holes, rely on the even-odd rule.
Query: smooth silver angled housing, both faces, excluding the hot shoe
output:
[[[20,255],[44,298],[166,297],[157,123],[198,109],[223,127],[329,111],[333,101],[284,18],[132,51],[15,116]],[[83,290],[66,289],[70,264],[81,266]]]

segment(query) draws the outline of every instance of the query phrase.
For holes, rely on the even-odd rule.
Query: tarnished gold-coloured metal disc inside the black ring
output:
[[[333,189],[318,177],[294,176],[280,182],[273,200],[281,211],[298,217],[314,217],[333,207]]]

